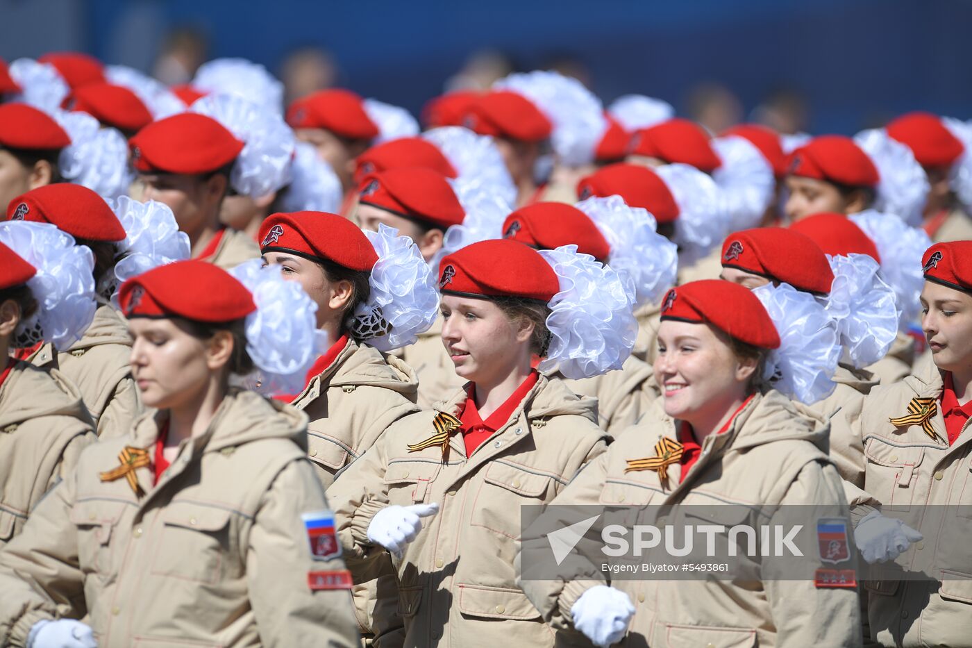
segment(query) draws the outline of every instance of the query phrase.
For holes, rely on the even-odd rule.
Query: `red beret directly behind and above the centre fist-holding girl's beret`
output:
[[[564,202],[535,202],[517,209],[503,221],[503,238],[540,250],[574,244],[578,252],[602,263],[610,256],[610,245],[594,221]]]

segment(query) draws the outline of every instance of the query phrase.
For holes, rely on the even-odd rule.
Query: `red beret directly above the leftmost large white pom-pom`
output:
[[[60,182],[32,189],[10,201],[7,218],[51,223],[61,232],[92,241],[124,240],[118,216],[104,198],[81,185]]]

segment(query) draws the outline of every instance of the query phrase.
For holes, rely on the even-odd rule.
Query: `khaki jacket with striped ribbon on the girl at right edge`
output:
[[[972,426],[950,447],[941,407],[931,419],[939,441],[920,425],[892,425],[888,418],[906,414],[913,398],[941,397],[934,363],[915,369],[864,401],[859,431],[867,472],[851,505],[881,507],[918,529],[924,540],[896,562],[941,580],[865,582],[871,632],[885,646],[965,646],[972,637]]]

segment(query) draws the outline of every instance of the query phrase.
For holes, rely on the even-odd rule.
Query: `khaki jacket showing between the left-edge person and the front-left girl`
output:
[[[114,439],[127,434],[143,412],[135,379],[128,365],[131,335],[112,306],[101,305],[85,336],[58,353],[45,344],[33,355],[38,367],[53,367],[81,390],[98,437]]]

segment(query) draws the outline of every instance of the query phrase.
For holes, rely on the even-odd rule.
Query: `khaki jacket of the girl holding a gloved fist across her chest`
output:
[[[458,416],[466,399],[460,390],[437,407]],[[541,375],[508,422],[469,457],[458,432],[444,463],[440,447],[408,451],[435,433],[435,413],[422,412],[395,423],[338,477],[330,492],[342,502],[338,528],[349,559],[387,554],[367,540],[381,509],[439,504],[396,559],[403,645],[554,645],[553,630],[516,585],[520,507],[549,502],[605,451],[595,408],[593,399]]]

